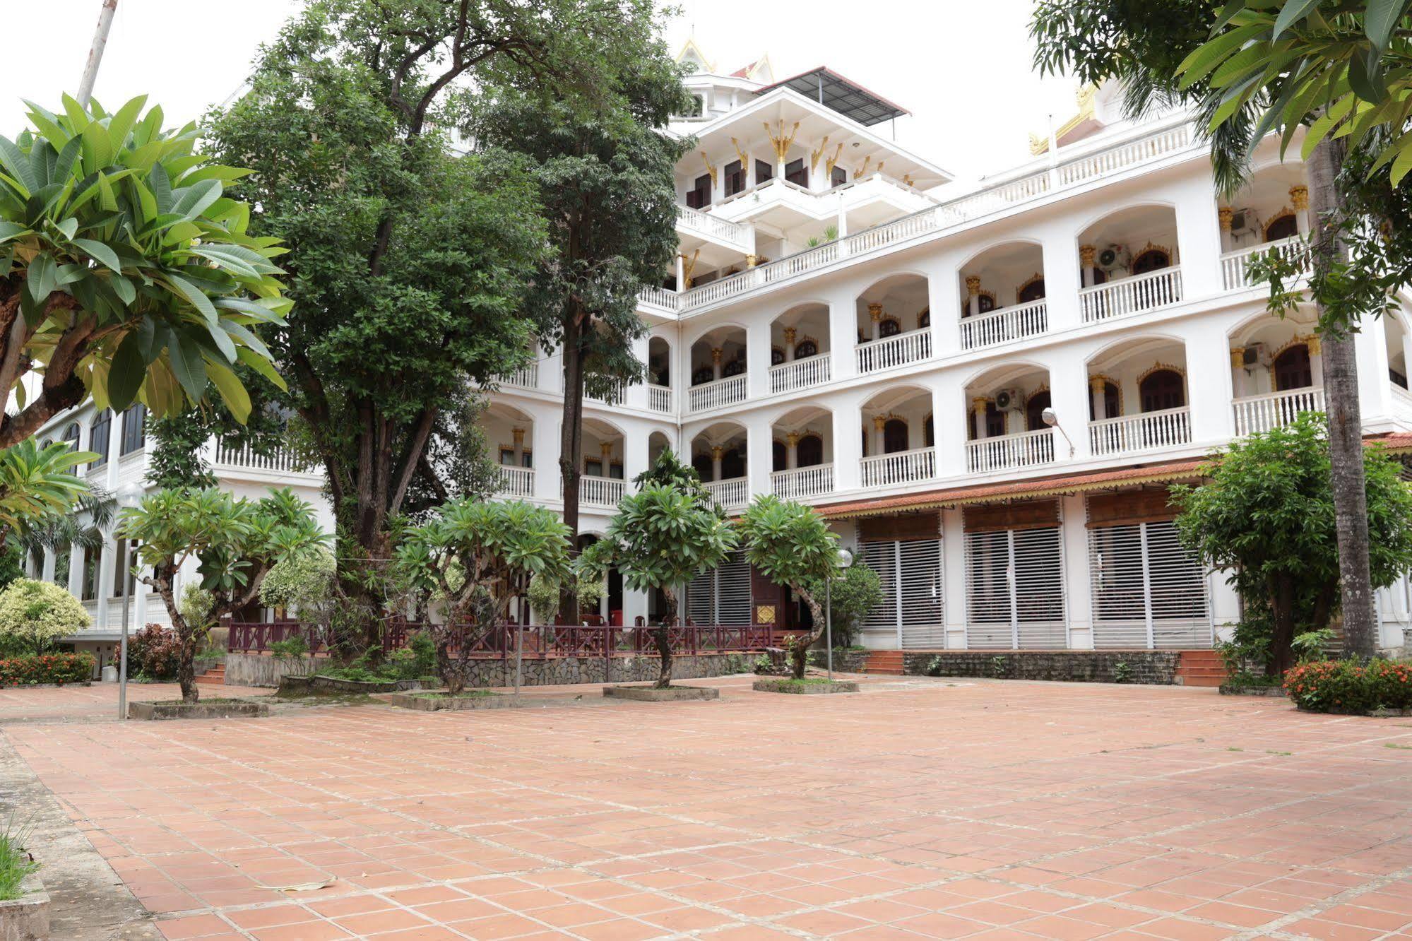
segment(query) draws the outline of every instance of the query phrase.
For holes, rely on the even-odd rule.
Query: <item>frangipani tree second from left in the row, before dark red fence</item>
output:
[[[455,660],[450,656],[460,626],[498,627],[531,578],[558,582],[570,571],[569,528],[552,510],[524,500],[452,500],[428,523],[408,530],[395,551],[394,579],[408,593],[445,605],[445,623],[426,629],[436,641],[436,670],[452,695],[466,688],[470,670],[469,639],[460,639]]]

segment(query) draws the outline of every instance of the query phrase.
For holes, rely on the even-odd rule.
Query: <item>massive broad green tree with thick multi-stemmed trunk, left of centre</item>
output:
[[[445,490],[429,444],[534,339],[537,187],[522,158],[460,155],[446,131],[491,81],[592,112],[652,17],[647,0],[312,0],[212,119],[216,147],[257,171],[253,225],[291,247],[298,307],[275,355],[328,473],[340,584],[370,612],[390,521],[414,487]]]

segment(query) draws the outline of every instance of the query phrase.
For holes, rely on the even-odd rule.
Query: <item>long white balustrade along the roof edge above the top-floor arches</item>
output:
[[[1072,148],[1065,148],[1073,151],[1073,155],[1053,167],[1034,168],[1031,165],[1014,174],[1005,174],[991,185],[969,195],[928,206],[909,216],[864,229],[829,244],[785,256],[682,294],[666,291],[665,294],[671,294],[675,301],[659,300],[655,288],[650,288],[654,294],[648,297],[648,292],[644,292],[644,301],[666,307],[671,311],[696,309],[758,287],[789,280],[833,264],[840,259],[866,254],[921,235],[939,232],[991,212],[1039,199],[1058,189],[1082,187],[1100,177],[1161,160],[1192,147],[1192,129],[1187,122],[1187,117],[1178,116],[1161,127],[1128,140],[1096,140],[1075,144]],[[1063,154],[1060,153],[1060,155]]]

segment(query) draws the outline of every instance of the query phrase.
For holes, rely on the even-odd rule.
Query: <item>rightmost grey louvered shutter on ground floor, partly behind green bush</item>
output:
[[[1209,647],[1206,572],[1169,521],[1089,530],[1093,646]]]

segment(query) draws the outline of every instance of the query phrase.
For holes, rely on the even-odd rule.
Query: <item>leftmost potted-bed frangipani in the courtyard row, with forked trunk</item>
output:
[[[161,595],[181,641],[176,680],[186,702],[199,695],[193,660],[210,627],[258,598],[277,562],[321,551],[329,540],[313,507],[289,489],[258,502],[215,489],[158,490],[123,510],[117,535],[136,540],[138,562],[152,568],[141,581]],[[201,603],[176,598],[176,572],[186,560],[198,562],[199,588],[208,593]]]

